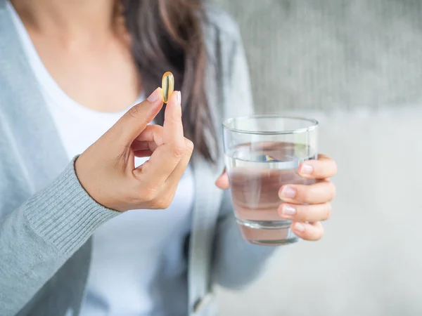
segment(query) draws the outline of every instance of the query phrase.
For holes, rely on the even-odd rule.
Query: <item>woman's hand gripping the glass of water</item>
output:
[[[324,235],[321,220],[331,215],[331,200],[335,196],[335,186],[329,178],[337,173],[335,162],[320,154],[317,160],[308,160],[300,164],[298,172],[307,179],[315,179],[313,185],[283,185],[279,196],[281,218],[293,220],[291,228],[302,239],[319,240]],[[229,178],[224,172],[217,179],[217,187],[229,188]]]

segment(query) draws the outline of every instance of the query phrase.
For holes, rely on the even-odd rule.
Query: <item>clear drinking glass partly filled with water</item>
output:
[[[253,244],[298,241],[291,220],[279,216],[281,186],[314,183],[298,174],[301,162],[316,159],[318,122],[314,119],[252,115],[226,119],[224,158],[231,200],[241,234]]]

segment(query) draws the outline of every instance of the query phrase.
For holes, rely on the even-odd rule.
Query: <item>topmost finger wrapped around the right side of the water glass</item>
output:
[[[300,176],[309,179],[326,179],[335,176],[337,164],[325,154],[319,154],[317,160],[302,162],[298,170]]]

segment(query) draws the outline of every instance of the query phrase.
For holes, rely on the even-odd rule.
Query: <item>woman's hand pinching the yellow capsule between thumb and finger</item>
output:
[[[79,182],[99,204],[116,211],[166,209],[193,151],[174,91],[163,126],[148,125],[162,107],[161,89],[132,107],[75,162]],[[135,168],[134,157],[151,158]]]

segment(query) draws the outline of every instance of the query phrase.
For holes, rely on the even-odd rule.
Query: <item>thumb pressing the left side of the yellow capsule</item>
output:
[[[108,132],[115,133],[125,144],[132,143],[161,108],[161,88],[156,88],[146,100],[131,107]]]

